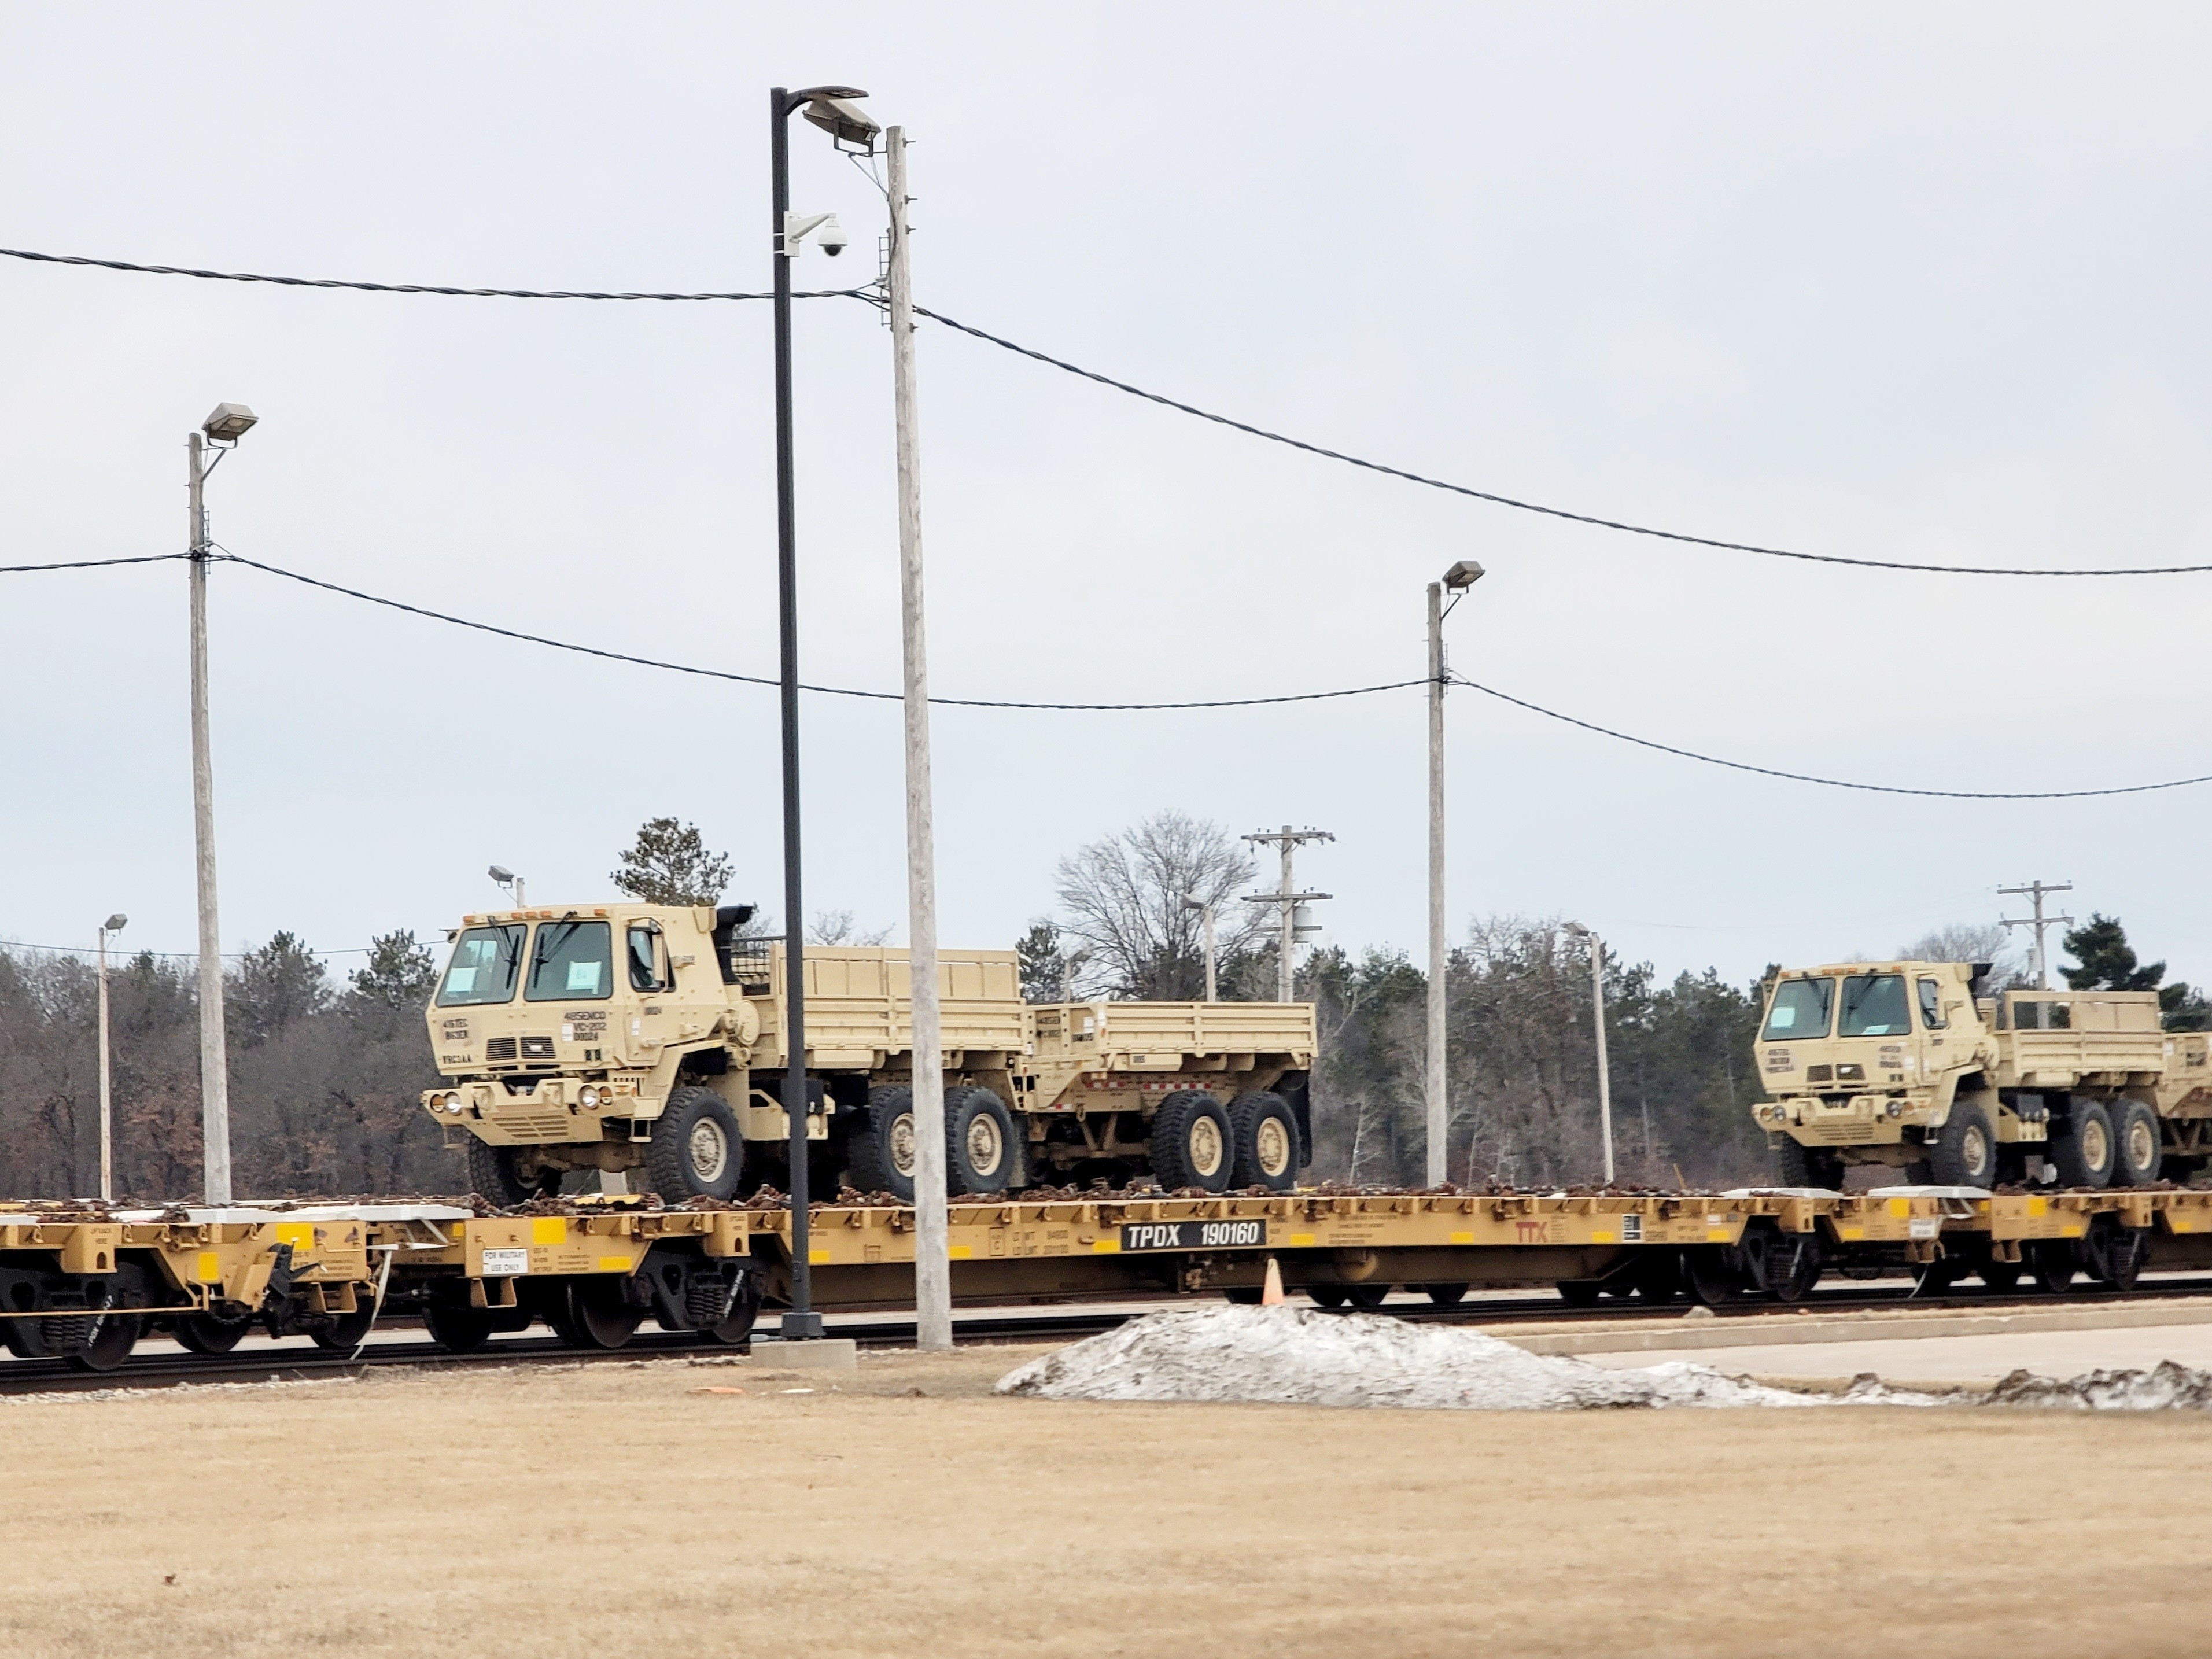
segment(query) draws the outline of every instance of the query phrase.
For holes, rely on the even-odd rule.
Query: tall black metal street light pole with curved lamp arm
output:
[[[867,97],[856,86],[807,86],[768,93],[768,155],[772,170],[770,234],[776,265],[776,633],[783,648],[783,1117],[792,1141],[792,1305],[783,1314],[783,1340],[823,1334],[814,1312],[807,1272],[807,1020],[805,1020],[805,909],[799,880],[799,529],[792,487],[792,259],[785,243],[792,210],[790,117],[807,119],[838,142],[867,139],[876,124],[847,100]]]

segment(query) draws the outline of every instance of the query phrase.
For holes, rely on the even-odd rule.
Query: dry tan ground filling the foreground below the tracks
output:
[[[0,1400],[0,1650],[2208,1648],[2203,1418],[991,1398],[1033,1352]]]

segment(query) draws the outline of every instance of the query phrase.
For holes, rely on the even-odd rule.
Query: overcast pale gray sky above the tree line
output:
[[[2197,7],[0,7],[0,243],[520,288],[765,288],[765,88],[914,137],[916,294],[1307,440],[1825,553],[2212,562]],[[874,186],[794,128],[794,201]],[[774,672],[770,319],[0,261],[0,564],[184,544]],[[889,341],[799,310],[807,677],[898,686]],[[1823,568],[1298,456],[925,327],[931,670],[956,697],[1252,697],[1451,661],[1659,741],[1876,783],[2212,772],[2212,577]],[[181,566],[0,577],[0,938],[192,947]],[[692,818],[779,898],[765,690],[212,577],[226,949],[595,898]],[[1730,978],[2070,878],[2212,975],[2212,787],[1942,803],[1721,772],[1449,701],[1451,909]],[[1159,807],[1338,841],[1329,936],[1422,942],[1422,701],[938,710],[942,938],[1006,945]],[[810,907],[905,931],[898,710],[805,708]],[[2017,911],[2015,911],[2017,914]],[[338,960],[345,967],[345,960]]]

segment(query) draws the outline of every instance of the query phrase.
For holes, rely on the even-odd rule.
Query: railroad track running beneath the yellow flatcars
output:
[[[2084,1296],[1944,1292],[1918,1294],[1898,1283],[1882,1290],[1814,1292],[1794,1307],[1807,1314],[1856,1314],[1905,1307],[1942,1307],[1975,1314],[2048,1312],[2062,1307],[2108,1307],[2132,1301],[2163,1301],[2212,1292],[2212,1279],[2170,1279],[2130,1292],[2095,1292]],[[1009,1312],[964,1314],[953,1323],[953,1340],[982,1343],[1051,1343],[1110,1332],[1150,1307],[1190,1305],[1203,1298],[1161,1296],[1150,1305],[1121,1298],[1113,1307],[1024,1307]],[[1608,1298],[1597,1307],[1568,1307],[1557,1296],[1500,1296],[1451,1305],[1400,1301],[1383,1312],[1422,1325],[1571,1325],[1679,1321],[1683,1303],[1646,1303],[1641,1298]],[[1714,1310],[1721,1321],[1759,1318],[1778,1312],[1772,1301],[1743,1301]],[[914,1323],[900,1318],[849,1318],[830,1327],[830,1336],[849,1336],[860,1347],[911,1347]],[[688,1334],[639,1332],[617,1349],[577,1349],[555,1336],[498,1338],[476,1354],[449,1354],[431,1340],[372,1343],[358,1358],[312,1347],[232,1352],[223,1356],[135,1354],[113,1371],[77,1371],[66,1360],[0,1360],[0,1396],[18,1394],[86,1394],[102,1389],[168,1389],[217,1383],[314,1383],[361,1376],[383,1367],[471,1369],[484,1365],[597,1365],[606,1360],[653,1360],[714,1356],[730,1349]],[[754,1358],[772,1360],[774,1343],[761,1343]]]

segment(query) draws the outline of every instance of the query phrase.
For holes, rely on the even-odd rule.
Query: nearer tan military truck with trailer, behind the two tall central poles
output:
[[[429,1006],[445,1086],[495,1203],[573,1170],[668,1201],[790,1179],[785,953],[750,905],[575,905],[469,916]],[[814,1192],[914,1194],[905,951],[805,951]],[[1290,1190],[1312,1161],[1310,1004],[1022,1002],[1013,951],[940,951],[947,1183],[1002,1192],[1150,1175]]]

